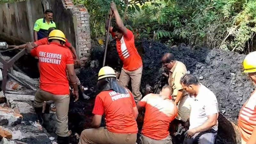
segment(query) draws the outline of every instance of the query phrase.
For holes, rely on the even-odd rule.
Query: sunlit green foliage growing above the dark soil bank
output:
[[[73,0],[90,14],[92,38],[105,35],[111,0]],[[209,48],[252,51],[256,0],[115,0],[124,24],[136,33]]]

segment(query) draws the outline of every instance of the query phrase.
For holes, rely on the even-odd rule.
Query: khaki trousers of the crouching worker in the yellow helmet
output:
[[[109,132],[106,127],[85,129],[78,144],[135,144],[137,134]]]

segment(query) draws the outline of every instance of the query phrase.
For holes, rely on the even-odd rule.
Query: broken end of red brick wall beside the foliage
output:
[[[90,61],[91,56],[91,36],[89,13],[84,5],[74,5],[72,0],[62,0],[66,9],[70,9],[74,15],[75,33],[76,33],[76,52],[80,57],[82,66]]]

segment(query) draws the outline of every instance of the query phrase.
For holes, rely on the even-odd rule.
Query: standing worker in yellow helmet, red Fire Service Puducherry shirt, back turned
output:
[[[67,73],[74,87],[75,101],[78,100],[78,88],[74,61],[70,50],[63,46],[65,35],[60,30],[52,30],[49,34],[49,45],[41,45],[33,49],[28,44],[27,50],[33,57],[38,57],[40,67],[40,88],[37,90],[34,107],[40,124],[43,124],[43,102],[53,100],[56,106],[57,135],[59,144],[69,143],[68,106],[69,84]]]

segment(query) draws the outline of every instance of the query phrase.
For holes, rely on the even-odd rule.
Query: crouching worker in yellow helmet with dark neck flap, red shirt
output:
[[[100,69],[97,87],[101,92],[92,110],[92,129],[81,133],[79,144],[135,144],[138,109],[132,93],[118,84],[115,71],[109,66]],[[103,114],[106,127],[100,127]]]

